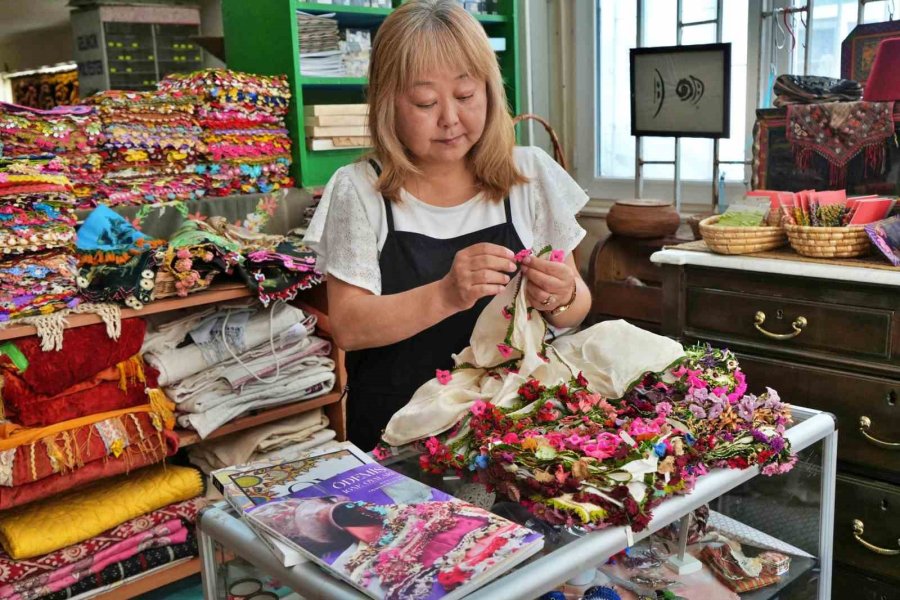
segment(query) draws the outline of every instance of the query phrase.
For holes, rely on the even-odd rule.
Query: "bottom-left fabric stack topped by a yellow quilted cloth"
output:
[[[202,493],[197,470],[156,466],[0,513],[0,599],[73,598],[190,559]]]

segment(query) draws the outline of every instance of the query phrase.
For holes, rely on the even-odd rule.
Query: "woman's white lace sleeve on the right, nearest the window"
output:
[[[533,149],[534,176],[531,202],[534,211],[535,249],[550,245],[571,252],[585,235],[575,215],[587,203],[588,195],[554,161],[539,148]]]

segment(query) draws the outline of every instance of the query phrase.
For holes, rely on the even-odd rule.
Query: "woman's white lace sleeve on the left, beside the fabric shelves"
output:
[[[328,182],[304,241],[320,271],[381,294],[378,239],[349,174],[338,171]]]

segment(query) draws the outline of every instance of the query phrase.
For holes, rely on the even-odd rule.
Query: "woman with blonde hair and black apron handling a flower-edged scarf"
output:
[[[578,325],[591,302],[571,255],[587,196],[546,153],[514,147],[496,55],[471,15],[451,0],[403,4],[375,37],[368,93],[373,155],[335,173],[307,235],[347,350],[349,438],[366,450],[468,345],[521,250],[567,253],[521,265],[552,325]]]

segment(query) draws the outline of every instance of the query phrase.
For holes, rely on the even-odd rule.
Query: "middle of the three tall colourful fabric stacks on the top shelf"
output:
[[[155,204],[204,194],[194,175],[204,153],[194,119],[195,99],[181,93],[111,90],[91,96],[103,121],[104,175],[97,204]]]

